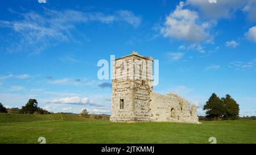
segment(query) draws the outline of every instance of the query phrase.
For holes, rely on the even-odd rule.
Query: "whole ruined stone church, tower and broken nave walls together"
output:
[[[114,60],[110,121],[199,123],[195,104],[153,91],[152,65],[152,57],[135,51]]]

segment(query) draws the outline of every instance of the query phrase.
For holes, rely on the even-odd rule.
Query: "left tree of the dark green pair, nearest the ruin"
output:
[[[224,103],[213,93],[204,105],[203,110],[206,110],[208,119],[221,119],[224,114]]]

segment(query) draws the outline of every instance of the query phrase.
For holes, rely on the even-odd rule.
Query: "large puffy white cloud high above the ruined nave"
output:
[[[167,16],[161,33],[164,37],[199,43],[212,40],[209,35],[210,22],[200,22],[196,11],[184,9],[184,2],[180,2],[174,12]]]

